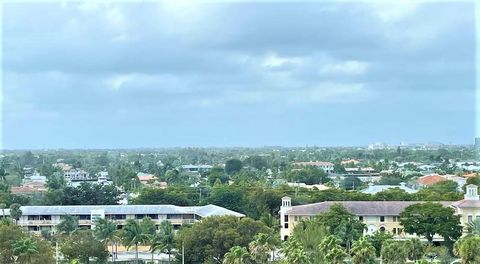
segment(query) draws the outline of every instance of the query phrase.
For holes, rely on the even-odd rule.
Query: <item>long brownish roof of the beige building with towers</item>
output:
[[[307,205],[293,206],[288,210],[288,215],[318,215],[330,209],[334,204],[343,205],[350,213],[354,215],[399,215],[407,206],[419,202],[406,201],[328,201]],[[449,206],[451,202],[439,202],[444,206]]]

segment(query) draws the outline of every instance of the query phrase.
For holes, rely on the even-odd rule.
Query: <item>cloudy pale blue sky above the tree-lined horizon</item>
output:
[[[4,3],[2,149],[475,136],[459,2]]]

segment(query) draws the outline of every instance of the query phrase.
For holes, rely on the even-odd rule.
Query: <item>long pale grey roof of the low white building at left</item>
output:
[[[196,214],[201,217],[244,214],[213,204],[204,206],[176,205],[71,205],[71,206],[22,206],[23,215],[89,215],[92,210],[104,210],[105,214]],[[9,210],[5,210],[9,214]]]

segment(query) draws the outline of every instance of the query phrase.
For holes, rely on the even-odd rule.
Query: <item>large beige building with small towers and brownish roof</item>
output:
[[[362,221],[366,235],[376,231],[388,231],[396,238],[413,237],[406,234],[400,224],[399,215],[409,205],[418,202],[407,201],[328,201],[306,205],[292,206],[290,197],[282,198],[280,207],[280,235],[282,240],[288,239],[292,234],[295,225],[304,219],[311,219],[320,213],[329,210],[334,204],[343,205],[350,213]],[[469,222],[480,219],[480,199],[476,185],[468,185],[465,198],[456,202],[439,202],[443,206],[452,207],[457,215],[461,216],[461,224],[466,227]],[[441,240],[435,237],[434,240]]]

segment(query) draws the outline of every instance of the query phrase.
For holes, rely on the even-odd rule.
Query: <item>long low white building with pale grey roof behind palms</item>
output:
[[[245,215],[216,205],[175,206],[175,205],[78,205],[78,206],[22,206],[22,216],[17,225],[28,231],[40,232],[54,230],[64,215],[78,217],[81,228],[91,229],[98,218],[113,220],[119,229],[128,219],[149,217],[155,225],[170,221],[173,228],[179,229],[183,224],[192,224],[209,216]],[[10,210],[5,210],[8,216]]]

